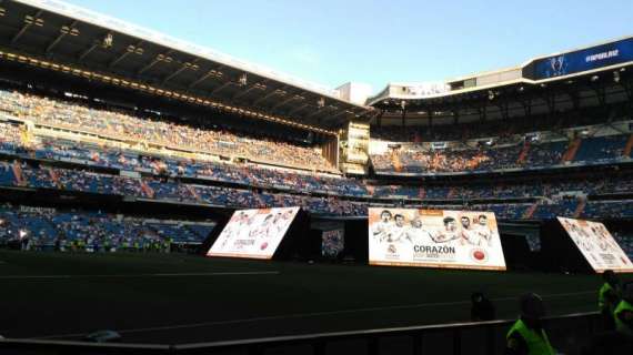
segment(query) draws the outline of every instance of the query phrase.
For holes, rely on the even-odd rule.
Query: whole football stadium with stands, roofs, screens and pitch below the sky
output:
[[[0,1],[0,354],[633,354],[622,34],[372,93]]]

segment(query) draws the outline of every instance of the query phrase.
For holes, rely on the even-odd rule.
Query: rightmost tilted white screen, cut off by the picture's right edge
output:
[[[559,222],[596,273],[605,270],[633,272],[631,260],[604,224],[565,217],[559,217]]]

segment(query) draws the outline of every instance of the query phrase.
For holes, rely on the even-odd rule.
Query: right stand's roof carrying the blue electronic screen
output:
[[[430,116],[436,124],[464,122],[464,115],[494,120],[513,111],[540,114],[631,101],[632,71],[629,36],[446,82],[390,83],[368,104],[380,109],[381,118],[401,123],[423,123]]]

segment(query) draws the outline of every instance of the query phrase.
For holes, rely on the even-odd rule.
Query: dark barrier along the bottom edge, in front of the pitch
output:
[[[187,345],[91,344],[29,339],[0,341],[1,354],[110,355],[110,354],[503,354],[505,332],[513,321],[456,323],[370,331],[279,336]],[[574,354],[601,328],[597,313],[570,314],[545,320],[545,328],[559,352]]]

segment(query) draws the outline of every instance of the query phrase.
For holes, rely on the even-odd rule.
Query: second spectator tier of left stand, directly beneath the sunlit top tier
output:
[[[342,179],[339,175],[309,173],[282,168],[262,168],[258,164],[235,164],[200,161],[185,158],[150,155],[142,151],[99,146],[62,139],[38,136],[28,146],[9,141],[19,130],[14,124],[0,122],[0,136],[11,142],[0,143],[0,151],[23,158],[73,161],[91,166],[113,168],[127,171],[151,172],[157,175],[199,178],[244,186],[277,187],[292,191],[334,193],[339,195],[366,195],[360,180]],[[8,134],[9,134],[8,133]],[[2,142],[2,141],[0,141]]]

